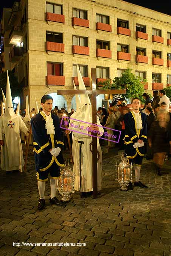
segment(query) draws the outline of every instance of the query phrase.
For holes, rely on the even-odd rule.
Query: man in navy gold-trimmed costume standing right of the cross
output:
[[[125,154],[129,163],[134,163],[135,182],[134,186],[148,188],[140,181],[140,170],[143,156],[146,152],[145,143],[147,141],[147,117],[140,113],[141,101],[137,97],[132,99],[132,111],[124,115],[125,124]],[[128,185],[133,189],[132,183]]]

